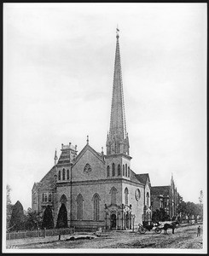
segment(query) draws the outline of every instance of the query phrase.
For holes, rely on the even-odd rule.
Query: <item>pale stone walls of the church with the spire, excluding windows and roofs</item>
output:
[[[150,182],[141,183],[140,175],[130,170],[130,177],[123,175],[123,167],[118,172],[118,166],[124,166],[130,160],[121,155],[110,158],[107,155],[97,153],[89,144],[78,154],[77,158],[68,165],[54,166],[40,183],[35,183],[32,189],[32,210],[44,212],[49,204],[56,219],[61,207],[61,197],[66,196],[68,225],[77,229],[131,229],[133,216],[135,226],[142,223],[144,206],[150,207],[150,198],[146,200],[147,193],[150,195]],[[58,161],[59,163],[59,161]],[[85,170],[86,165],[90,171]],[[115,174],[113,176],[113,164]],[[130,165],[130,163],[129,163]],[[107,166],[109,175],[107,176]],[[68,168],[68,169],[67,169]],[[70,176],[63,180],[63,169],[70,170]],[[61,180],[58,179],[61,172]],[[67,172],[66,172],[67,175]],[[115,200],[113,198],[115,190]],[[136,190],[139,196],[136,197]],[[127,195],[125,194],[127,191]],[[47,199],[43,195],[47,195]],[[49,201],[49,194],[52,201]],[[83,198],[83,216],[78,219],[78,195]],[[99,197],[98,219],[95,218],[94,195]],[[127,196],[127,197],[126,197]],[[125,198],[126,197],[126,198]],[[44,200],[43,200],[44,199]]]

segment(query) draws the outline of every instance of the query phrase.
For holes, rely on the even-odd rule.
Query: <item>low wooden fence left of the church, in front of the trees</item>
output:
[[[18,231],[7,233],[7,240],[11,239],[23,239],[31,237],[45,237],[45,236],[58,236],[58,235],[73,235],[75,234],[75,228],[65,229],[51,229],[51,230],[33,230],[33,231]]]

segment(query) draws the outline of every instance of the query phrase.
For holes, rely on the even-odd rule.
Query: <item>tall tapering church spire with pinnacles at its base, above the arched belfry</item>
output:
[[[113,95],[110,128],[107,133],[107,154],[124,153],[129,155],[129,139],[125,125],[125,105],[122,72],[119,53],[119,29],[116,29],[116,50],[113,75]]]

